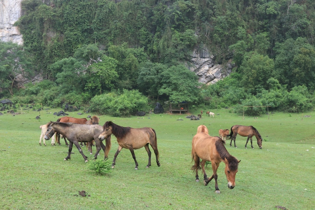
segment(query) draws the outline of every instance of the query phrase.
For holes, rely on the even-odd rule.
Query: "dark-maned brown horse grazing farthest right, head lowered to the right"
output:
[[[232,141],[234,140],[234,146],[237,147],[235,144],[235,139],[236,139],[237,134],[239,134],[241,136],[247,136],[245,148],[247,148],[247,143],[248,143],[249,139],[251,139],[251,146],[252,146],[252,136],[256,137],[257,145],[259,146],[260,149],[262,148],[263,139],[261,138],[258,130],[255,129],[254,127],[252,127],[252,126],[239,126],[239,125],[232,126],[231,133],[229,135],[229,137],[231,138],[230,146],[232,146]],[[254,147],[252,146],[252,148],[254,148]]]

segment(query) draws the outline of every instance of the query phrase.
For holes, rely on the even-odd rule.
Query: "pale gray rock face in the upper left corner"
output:
[[[22,35],[13,24],[21,16],[22,0],[0,0],[0,40],[23,44]]]

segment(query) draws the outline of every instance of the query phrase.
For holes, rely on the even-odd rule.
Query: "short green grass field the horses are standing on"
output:
[[[153,155],[152,166],[145,168],[148,157],[142,148],[135,150],[139,162],[139,170],[135,170],[130,151],[123,149],[112,172],[97,175],[87,169],[76,147],[71,160],[63,161],[68,151],[63,140],[62,145],[56,146],[51,146],[50,141],[46,141],[47,146],[38,144],[39,126],[56,121],[58,117],[52,114],[56,111],[60,110],[41,112],[40,120],[35,119],[39,113],[33,111],[16,116],[0,115],[1,210],[275,210],[275,206],[288,210],[315,209],[315,115],[312,112],[243,119],[221,109],[211,110],[216,113],[214,118],[204,114],[198,121],[185,118],[187,114],[129,118],[103,115],[100,125],[111,120],[120,126],[154,128],[161,166],[157,167]],[[87,115],[69,113],[78,118]],[[254,149],[250,146],[245,149],[246,137],[237,136],[237,148],[230,147],[227,140],[229,153],[241,160],[233,190],[227,188],[224,163],[218,169],[221,194],[215,193],[214,180],[208,186],[202,181],[195,182],[195,174],[190,170],[191,140],[202,124],[212,136],[219,135],[219,129],[230,129],[236,124],[252,125],[264,139],[262,149],[255,137]],[[117,147],[112,136],[110,160]],[[83,152],[92,161],[94,155],[85,147]],[[210,165],[206,171],[208,176],[212,175]],[[199,177],[203,177],[201,171]],[[79,191],[83,190],[89,196],[80,196]]]

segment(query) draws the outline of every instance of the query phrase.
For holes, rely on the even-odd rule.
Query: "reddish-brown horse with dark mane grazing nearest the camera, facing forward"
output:
[[[204,173],[204,184],[205,186],[214,178],[216,193],[220,193],[218,187],[218,175],[217,170],[220,165],[220,162],[225,163],[225,175],[227,178],[227,186],[229,189],[235,187],[235,176],[237,173],[238,161],[235,157],[229,154],[225,148],[225,141],[223,141],[218,136],[212,137],[203,132],[197,133],[192,138],[191,145],[191,157],[194,161],[194,165],[191,167],[191,170],[196,171],[196,182],[199,182],[198,170],[201,168]],[[202,162],[200,162],[202,159]],[[210,178],[207,178],[205,173],[205,162],[211,161],[213,175]]]

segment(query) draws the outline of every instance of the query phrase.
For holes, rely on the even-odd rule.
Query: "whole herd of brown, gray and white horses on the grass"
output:
[[[118,143],[118,149],[114,155],[114,159],[111,167],[114,168],[116,164],[116,158],[119,152],[123,149],[129,149],[132,155],[132,158],[135,162],[135,169],[138,169],[138,162],[134,153],[134,149],[139,149],[144,147],[148,153],[148,164],[147,168],[151,166],[151,151],[149,145],[151,145],[155,156],[157,166],[160,166],[159,162],[159,153],[157,150],[157,134],[153,128],[130,128],[122,127],[114,124],[111,121],[107,121],[103,126],[98,125],[98,119],[96,116],[93,116],[88,122],[86,118],[73,118],[73,117],[62,117],[57,120],[57,122],[49,122],[46,125],[42,125],[41,138],[44,135],[44,139],[48,140],[53,138],[54,135],[62,135],[65,142],[66,139],[69,141],[69,150],[67,157],[64,160],[69,160],[71,157],[71,151],[73,145],[75,145],[80,154],[82,155],[85,162],[87,162],[87,157],[83,154],[83,151],[79,143],[92,143],[94,141],[96,146],[96,152],[94,159],[97,158],[97,155],[101,149],[104,151],[104,158],[108,158],[108,154],[111,147],[111,134],[113,134]],[[85,119],[85,120],[84,120]],[[44,130],[45,134],[43,134]],[[235,187],[235,177],[238,168],[238,161],[234,156],[230,155],[227,149],[225,148],[226,137],[231,138],[230,146],[232,146],[232,141],[234,140],[234,146],[236,147],[235,140],[236,135],[247,136],[246,145],[251,139],[252,145],[252,136],[257,138],[257,144],[259,148],[262,148],[262,138],[257,129],[252,126],[240,126],[235,125],[231,127],[231,132],[228,129],[220,129],[218,136],[210,136],[206,126],[201,125],[197,128],[197,133],[192,138],[191,144],[191,158],[194,162],[194,165],[191,167],[191,170],[196,172],[196,182],[199,182],[198,170],[202,169],[204,174],[204,184],[207,185],[213,178],[215,179],[215,192],[220,193],[218,182],[217,182],[217,169],[221,162],[225,163],[225,175],[228,181],[228,188],[233,189]],[[52,139],[53,140],[53,139]],[[57,139],[56,139],[57,140]],[[105,145],[103,141],[105,140]],[[58,142],[59,140],[57,140]],[[53,144],[53,142],[52,142]],[[60,143],[59,143],[60,144]],[[67,142],[66,142],[67,144]],[[40,139],[41,145],[41,139]],[[44,145],[45,140],[44,140]],[[245,145],[245,147],[246,147]],[[253,148],[253,146],[252,146]],[[213,174],[210,178],[207,178],[205,173],[205,162],[211,162]]]

